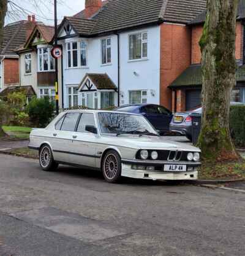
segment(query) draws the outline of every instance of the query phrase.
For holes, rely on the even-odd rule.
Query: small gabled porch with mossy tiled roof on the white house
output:
[[[115,92],[118,88],[107,74],[87,73],[78,91],[81,92],[82,106],[89,109],[107,109],[116,106]]]

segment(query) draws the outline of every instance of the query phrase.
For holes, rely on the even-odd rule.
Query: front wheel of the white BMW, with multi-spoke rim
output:
[[[107,182],[116,183],[121,179],[121,158],[115,150],[110,150],[105,154],[102,161],[102,172]]]

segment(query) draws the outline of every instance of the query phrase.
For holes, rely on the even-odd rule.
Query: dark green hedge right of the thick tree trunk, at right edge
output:
[[[232,106],[230,109],[230,131],[238,147],[245,147],[245,106]]]

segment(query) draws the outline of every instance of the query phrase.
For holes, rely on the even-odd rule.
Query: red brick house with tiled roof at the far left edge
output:
[[[4,39],[0,47],[0,96],[5,89],[20,86],[19,55],[15,50],[25,43],[35,25],[35,16],[29,15],[28,20],[4,27]]]

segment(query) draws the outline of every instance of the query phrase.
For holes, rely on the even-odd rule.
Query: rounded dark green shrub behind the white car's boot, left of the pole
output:
[[[29,120],[32,125],[43,128],[47,126],[54,117],[55,104],[50,102],[49,98],[34,98],[26,107],[26,111],[28,112]]]

